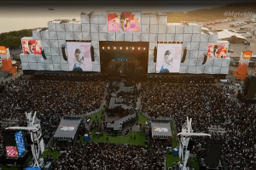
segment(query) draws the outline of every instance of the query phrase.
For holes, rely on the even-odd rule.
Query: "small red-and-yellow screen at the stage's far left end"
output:
[[[22,48],[24,54],[42,54],[39,40],[22,40]]]

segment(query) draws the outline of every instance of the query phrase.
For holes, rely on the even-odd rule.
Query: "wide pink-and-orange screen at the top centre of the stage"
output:
[[[140,32],[140,12],[108,12],[108,31]]]

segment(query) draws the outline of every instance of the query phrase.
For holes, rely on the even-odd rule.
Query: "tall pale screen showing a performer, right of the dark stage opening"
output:
[[[156,73],[179,72],[182,44],[158,44]]]

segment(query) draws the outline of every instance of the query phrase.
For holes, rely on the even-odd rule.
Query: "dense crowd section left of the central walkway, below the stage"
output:
[[[62,116],[98,109],[105,87],[105,82],[38,81],[19,77],[7,83],[0,94],[0,120],[26,121],[25,112],[37,111],[44,144],[48,144]]]

